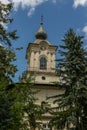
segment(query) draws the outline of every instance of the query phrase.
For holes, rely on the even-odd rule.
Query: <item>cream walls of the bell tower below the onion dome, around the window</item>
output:
[[[29,44],[27,49],[28,76],[30,72],[35,72],[36,83],[52,84],[53,82],[58,82],[55,64],[56,49],[57,46],[52,46],[46,40]],[[46,58],[46,69],[40,68],[41,57]]]

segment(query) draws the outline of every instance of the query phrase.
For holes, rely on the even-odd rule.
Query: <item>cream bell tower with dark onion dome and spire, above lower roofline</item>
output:
[[[47,40],[41,17],[40,27],[35,34],[35,41],[27,48],[28,70],[27,77],[34,72],[36,84],[53,84],[58,81],[56,76],[55,55],[57,46]]]

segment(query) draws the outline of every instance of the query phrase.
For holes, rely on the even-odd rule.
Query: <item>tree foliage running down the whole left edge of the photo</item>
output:
[[[0,2],[0,130],[15,130],[19,128],[20,113],[18,109],[12,109],[16,102],[16,94],[7,90],[8,86],[14,88],[12,77],[17,71],[13,61],[16,60],[15,53],[11,49],[12,40],[16,40],[16,31],[9,32],[6,25],[13,20],[9,18],[12,4],[4,5]],[[20,108],[20,106],[19,106]],[[21,110],[21,109],[20,109]],[[19,115],[19,116],[17,116]]]

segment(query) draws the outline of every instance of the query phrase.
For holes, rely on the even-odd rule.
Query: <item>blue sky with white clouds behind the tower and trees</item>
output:
[[[86,47],[87,42],[87,0],[0,0],[3,3],[14,3],[11,17],[14,19],[9,30],[17,29],[19,39],[13,42],[16,50],[18,72],[14,81],[27,69],[25,59],[29,42],[35,40],[35,33],[43,15],[44,29],[48,34],[48,41],[53,45],[62,44],[61,39],[69,28],[73,28],[78,35],[83,35]],[[58,57],[58,54],[57,54]]]

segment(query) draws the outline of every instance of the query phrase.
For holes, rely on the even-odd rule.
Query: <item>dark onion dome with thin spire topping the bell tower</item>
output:
[[[36,39],[43,39],[43,40],[47,39],[47,34],[43,29],[43,19],[42,19],[42,17],[41,17],[40,28],[38,29],[35,37],[36,37]]]

